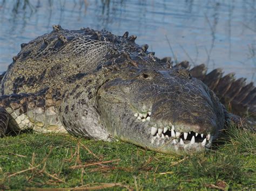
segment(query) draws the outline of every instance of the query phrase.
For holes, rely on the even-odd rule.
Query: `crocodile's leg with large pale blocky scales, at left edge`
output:
[[[45,92],[0,96],[1,136],[10,131],[66,132],[59,120],[57,101]]]

